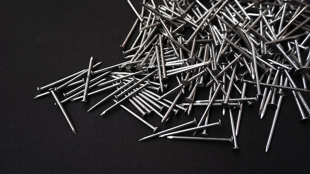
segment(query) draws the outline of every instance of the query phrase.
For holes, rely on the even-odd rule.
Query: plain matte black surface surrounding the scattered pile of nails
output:
[[[226,143],[138,142],[152,131],[124,110],[86,112],[102,96],[65,105],[75,135],[52,96],[33,99],[37,87],[87,68],[91,56],[101,67],[123,62],[118,45],[135,19],[126,0],[0,1],[0,173],[309,173],[310,123],[299,121],[289,91],[268,153],[273,111],[260,120],[257,104],[245,107],[240,150],[232,151]],[[229,129],[229,118],[219,118]],[[151,121],[164,130],[190,120]]]

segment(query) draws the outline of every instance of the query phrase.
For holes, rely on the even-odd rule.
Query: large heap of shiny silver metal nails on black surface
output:
[[[310,82],[307,46],[310,5],[307,3],[300,0],[204,3],[163,0],[155,4],[154,0],[143,0],[139,4],[140,12],[127,1],[137,19],[120,45],[125,62],[96,70],[100,63],[93,65],[91,58],[88,69],[38,88],[48,91],[35,98],[52,94],[73,132],[75,129],[62,104],[85,102],[89,96],[99,93],[104,98],[88,111],[101,106],[104,109],[101,115],[104,115],[120,106],[154,131],[140,141],[158,136],[224,141],[238,149],[243,107],[258,102],[260,118],[268,108],[274,108],[267,152],[283,97],[290,93],[301,120],[309,119],[310,108],[304,98]],[[85,81],[80,80],[83,76]],[[103,92],[108,89],[113,92]],[[63,92],[65,99],[60,101],[56,92]],[[197,100],[198,93],[206,97]],[[114,103],[104,106],[107,100]],[[180,111],[191,115],[195,107],[205,108],[203,113],[195,114],[199,121],[194,118],[156,132],[153,124],[167,122]],[[222,115],[228,117],[209,123],[212,117],[209,112],[214,107],[222,107]],[[158,116],[158,122],[147,122],[143,118],[146,115]],[[203,136],[211,127],[221,126],[220,119],[224,118],[229,118],[231,130],[226,138]],[[193,132],[193,136],[178,136],[185,132]]]

